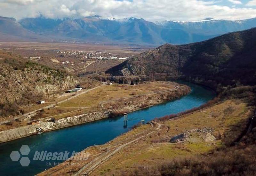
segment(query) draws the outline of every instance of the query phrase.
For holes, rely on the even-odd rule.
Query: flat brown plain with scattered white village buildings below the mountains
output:
[[[73,75],[104,72],[124,60],[99,61],[97,57],[132,57],[148,48],[79,43],[0,42],[0,50],[14,52],[34,62],[64,70]],[[70,54],[70,52],[76,52]],[[83,54],[78,53],[83,52]],[[92,56],[87,57],[92,54]]]

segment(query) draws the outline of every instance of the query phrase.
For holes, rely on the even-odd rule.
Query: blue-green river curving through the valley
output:
[[[53,167],[54,163],[60,162],[33,160],[36,151],[52,153],[68,151],[71,155],[72,151],[80,152],[94,144],[104,144],[114,139],[131,130],[131,127],[142,119],[148,122],[155,117],[176,114],[198,107],[215,97],[215,92],[210,89],[192,83],[186,84],[192,89],[190,94],[178,100],[129,113],[127,127],[124,127],[123,117],[120,116],[2,143],[0,144],[0,173],[1,175],[35,175]],[[21,166],[20,159],[12,161],[10,158],[11,152],[18,151],[22,145],[28,145],[30,148],[27,155],[30,164],[27,167]]]

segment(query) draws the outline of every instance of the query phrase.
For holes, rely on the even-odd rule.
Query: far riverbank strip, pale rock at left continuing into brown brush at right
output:
[[[117,100],[110,100],[104,102],[104,109],[97,112],[81,114],[77,116],[70,116],[60,118],[52,122],[52,118],[46,118],[38,124],[31,124],[10,130],[0,132],[0,143],[11,140],[20,139],[37,134],[37,129],[40,128],[43,132],[49,132],[61,128],[66,128],[78,124],[97,121],[111,116],[122,115],[123,113],[130,113],[143,108],[148,108],[157,104],[164,103],[168,100],[174,100],[184,96],[190,92],[190,88],[186,85],[176,84],[171,90],[164,90],[158,92],[147,93],[144,95],[124,97]],[[103,104],[101,104],[103,106]],[[113,107],[114,105],[118,105]],[[111,111],[110,111],[111,110]]]

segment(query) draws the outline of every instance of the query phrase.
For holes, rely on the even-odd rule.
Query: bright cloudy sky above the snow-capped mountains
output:
[[[0,0],[0,16],[105,18],[137,17],[148,21],[241,20],[256,17],[256,0]]]

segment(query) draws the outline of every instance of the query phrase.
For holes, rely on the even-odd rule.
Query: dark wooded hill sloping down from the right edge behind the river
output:
[[[165,44],[109,69],[114,75],[164,74],[217,84],[256,84],[256,28],[204,42]]]

